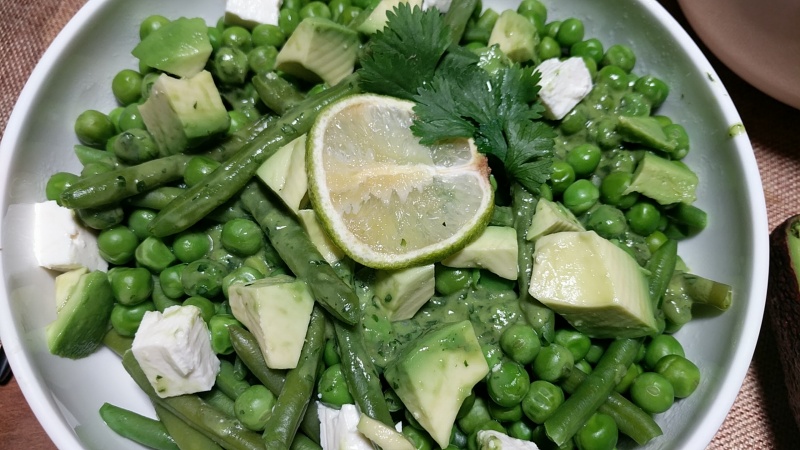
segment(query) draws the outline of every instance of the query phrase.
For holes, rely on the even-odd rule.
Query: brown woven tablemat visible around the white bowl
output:
[[[0,130],[41,54],[83,0],[0,1]],[[677,3],[661,3],[688,29]],[[696,36],[693,35],[693,37]],[[703,47],[739,109],[764,183],[770,230],[800,212],[800,111],[750,87]],[[2,135],[0,135],[0,138]],[[768,299],[768,302],[774,301]],[[797,448],[800,436],[787,404],[787,390],[768,316],[753,362],[727,419],[709,449]],[[0,388],[0,447],[52,448],[16,383]],[[14,402],[15,404],[11,404]]]

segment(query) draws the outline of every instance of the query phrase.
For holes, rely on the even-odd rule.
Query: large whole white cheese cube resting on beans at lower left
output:
[[[219,372],[211,335],[196,306],[146,312],[131,350],[161,398],[208,391]]]

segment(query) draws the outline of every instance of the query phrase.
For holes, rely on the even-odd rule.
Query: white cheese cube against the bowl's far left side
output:
[[[54,201],[36,203],[33,221],[33,251],[39,265],[59,272],[81,267],[107,270],[95,235],[80,224],[75,213]]]

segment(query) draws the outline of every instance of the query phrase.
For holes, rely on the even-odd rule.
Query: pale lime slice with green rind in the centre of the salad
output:
[[[306,143],[309,197],[355,261],[399,269],[438,261],[477,237],[494,195],[472,139],[426,146],[414,103],[372,94],[329,105]]]

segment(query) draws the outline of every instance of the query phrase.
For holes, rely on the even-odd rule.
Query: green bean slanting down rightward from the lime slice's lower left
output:
[[[241,198],[289,269],[308,283],[317,302],[336,319],[356,323],[359,302],[355,292],[320,255],[294,215],[271,195],[265,187],[253,182],[245,188]]]

